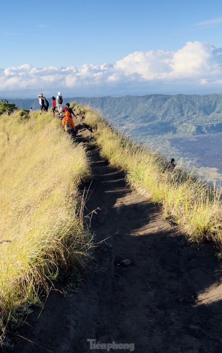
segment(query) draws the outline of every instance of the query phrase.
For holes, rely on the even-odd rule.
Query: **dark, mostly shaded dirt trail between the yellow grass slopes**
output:
[[[63,298],[51,292],[39,319],[35,311],[31,327],[19,328],[44,348],[18,339],[14,352],[98,352],[87,339],[134,343],[137,353],[221,352],[222,273],[209,248],[184,242],[177,227],[129,190],[124,174],[98,150],[91,158],[87,212],[100,208],[91,229],[97,241],[110,237],[112,248],[98,248],[78,293]],[[122,267],[123,259],[131,264]]]

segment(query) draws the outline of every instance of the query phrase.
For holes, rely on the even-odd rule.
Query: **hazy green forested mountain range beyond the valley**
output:
[[[51,103],[51,98],[48,99]],[[174,132],[199,134],[222,131],[222,95],[147,95],[122,97],[72,97],[76,101],[100,109],[109,120],[125,124],[142,124],[152,133]],[[8,99],[18,108],[39,109],[38,99]],[[50,104],[51,105],[51,104]]]

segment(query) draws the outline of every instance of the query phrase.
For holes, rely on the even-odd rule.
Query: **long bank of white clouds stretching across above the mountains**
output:
[[[221,83],[222,48],[197,41],[177,51],[134,52],[115,64],[0,69],[1,96],[220,93]]]

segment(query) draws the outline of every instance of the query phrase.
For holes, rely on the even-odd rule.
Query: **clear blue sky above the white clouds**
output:
[[[222,47],[222,2],[218,0],[213,6],[209,0],[54,0],[39,3],[11,0],[5,2],[1,10],[2,69],[24,64],[35,68],[78,67],[104,62],[115,65],[116,61],[134,52],[160,49],[172,52],[183,48],[186,42],[195,41]],[[130,74],[134,74],[134,79],[135,74],[141,75],[132,70]],[[141,77],[143,79],[144,75]],[[70,90],[76,85],[74,81]],[[148,81],[150,84],[149,78]],[[100,85],[101,94],[104,85]],[[16,86],[13,89],[12,84],[2,87],[8,92],[16,92]],[[26,95],[28,88],[24,83],[20,89]],[[115,94],[115,88],[112,91]],[[131,91],[136,94],[136,90],[126,89],[126,93]],[[213,90],[209,88],[209,91]],[[83,94],[84,90],[81,92]],[[87,94],[91,94],[90,90]]]

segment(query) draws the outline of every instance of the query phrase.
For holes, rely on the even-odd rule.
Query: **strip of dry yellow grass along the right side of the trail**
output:
[[[168,172],[159,152],[117,133],[90,107],[85,110],[85,122],[95,130],[101,155],[125,170],[129,185],[160,204],[164,216],[176,222],[191,241],[211,240],[222,248],[221,190],[202,183],[192,171]]]

